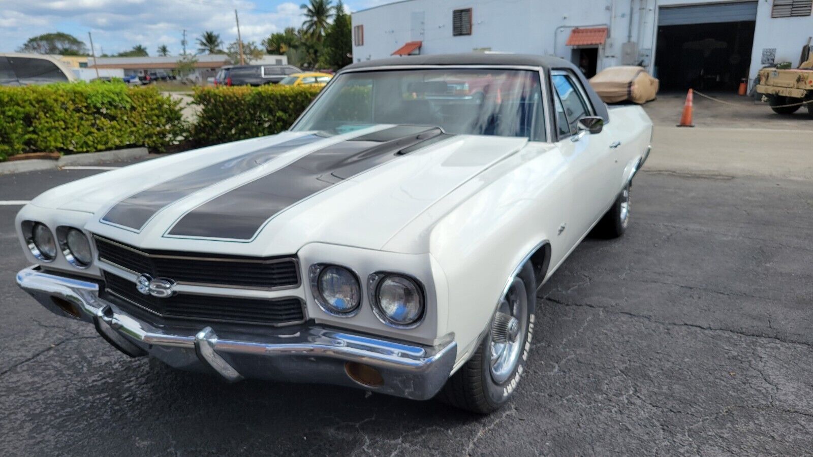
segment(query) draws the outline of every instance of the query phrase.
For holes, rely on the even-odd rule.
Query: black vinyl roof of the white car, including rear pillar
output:
[[[606,104],[602,101],[593,87],[585,78],[585,75],[575,65],[565,59],[549,55],[532,54],[500,54],[471,52],[466,54],[430,54],[430,55],[406,55],[402,57],[390,57],[388,59],[367,60],[365,62],[351,63],[344,70],[358,70],[364,68],[389,67],[393,65],[500,65],[542,67],[547,70],[564,69],[570,70],[580,80],[581,85],[587,92],[590,102],[596,110],[596,114],[610,121]]]

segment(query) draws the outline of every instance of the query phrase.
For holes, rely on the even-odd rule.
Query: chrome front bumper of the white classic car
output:
[[[131,357],[152,355],[175,368],[214,370],[228,381],[244,376],[289,382],[347,385],[404,398],[432,398],[446,383],[457,344],[419,346],[346,333],[315,325],[274,334],[197,332],[154,327],[99,298],[96,282],[44,272],[34,266],[17,273],[17,284],[59,316],[84,320],[112,346]],[[376,368],[384,382],[363,385],[346,363]]]

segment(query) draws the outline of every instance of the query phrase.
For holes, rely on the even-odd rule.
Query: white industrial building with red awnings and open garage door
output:
[[[640,64],[664,89],[736,89],[799,62],[813,0],[403,0],[353,20],[354,61],[500,51],[554,54],[590,76]]]

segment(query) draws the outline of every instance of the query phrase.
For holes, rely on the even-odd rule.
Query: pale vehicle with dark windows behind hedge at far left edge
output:
[[[0,54],[0,85],[43,85],[78,81],[70,67],[43,54]]]

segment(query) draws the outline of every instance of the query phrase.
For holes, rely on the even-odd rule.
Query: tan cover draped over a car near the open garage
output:
[[[607,103],[646,103],[658,94],[658,80],[642,67],[609,67],[590,78],[590,85]]]

